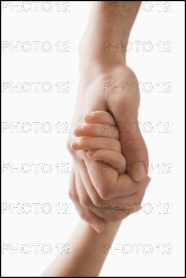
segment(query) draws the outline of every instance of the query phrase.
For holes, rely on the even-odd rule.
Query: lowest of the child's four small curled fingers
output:
[[[86,155],[90,159],[104,161],[116,169],[119,174],[126,172],[126,160],[120,153],[110,150],[88,150]]]

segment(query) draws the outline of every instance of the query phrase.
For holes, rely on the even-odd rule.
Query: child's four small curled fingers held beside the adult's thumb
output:
[[[75,150],[85,150],[88,158],[103,161],[119,174],[124,173],[126,160],[121,153],[119,129],[113,116],[102,111],[101,118],[97,111],[94,117],[91,117],[91,113],[85,116],[84,121],[84,125],[74,129],[75,136],[81,137]]]

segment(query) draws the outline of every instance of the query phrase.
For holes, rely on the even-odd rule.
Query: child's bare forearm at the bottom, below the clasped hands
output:
[[[68,244],[70,254],[58,255],[41,276],[98,276],[121,222],[109,222],[98,234],[88,223],[80,220]]]

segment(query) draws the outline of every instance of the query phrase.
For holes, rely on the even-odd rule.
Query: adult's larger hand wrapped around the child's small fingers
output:
[[[124,204],[126,203],[126,195],[128,195],[130,196],[131,204],[141,203],[149,179],[146,178],[147,174],[142,170],[142,165],[137,168],[135,163],[148,163],[148,155],[142,135],[136,129],[137,110],[140,100],[136,86],[132,86],[130,92],[113,89],[113,85],[104,89],[105,84],[115,84],[115,86],[119,82],[121,84],[126,84],[126,82],[136,84],[137,80],[134,73],[126,66],[121,65],[113,68],[111,71],[97,74],[97,77],[94,76],[92,79],[89,76],[84,76],[80,79],[77,105],[72,119],[72,130],[76,125],[83,124],[83,115],[85,113],[97,110],[110,111],[118,126],[121,126],[120,141],[122,153],[126,158],[126,162],[129,163],[130,169],[132,166],[129,175],[121,175],[122,179],[120,180],[122,182],[120,182],[119,186],[121,190],[118,191],[117,196],[116,191],[113,190],[113,179],[108,178],[108,172],[102,173],[102,165],[98,161],[88,159],[84,151],[75,152],[71,150],[69,145],[75,139],[75,135],[72,132],[70,133],[67,146],[74,161],[74,169],[70,182],[70,197],[74,201],[81,218],[90,222],[97,227],[97,230],[101,231],[104,229],[104,220],[113,221],[114,217],[116,220],[126,217],[126,214],[118,215],[117,210],[115,210],[116,213],[107,211],[107,213],[103,214],[101,206],[103,206],[104,200],[110,200],[109,204]],[[132,126],[130,132],[128,132],[128,129],[123,128],[126,122],[130,123],[129,126]],[[138,180],[138,182],[133,181],[132,178],[133,180]],[[121,187],[122,184],[124,184],[124,187]],[[135,194],[133,192],[134,188],[136,190]],[[125,198],[125,200],[121,200],[121,198]]]

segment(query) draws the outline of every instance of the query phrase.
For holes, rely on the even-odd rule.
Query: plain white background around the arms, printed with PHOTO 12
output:
[[[35,11],[34,4],[21,6],[20,12],[17,8],[11,11],[11,3],[3,2],[8,5],[2,12],[3,33],[2,40],[11,44],[20,45],[24,41],[31,44],[31,50],[28,52],[11,47],[5,48],[2,53],[3,58],[3,82],[10,85],[2,92],[3,113],[2,121],[11,126],[20,123],[23,130],[4,129],[3,138],[3,167],[9,166],[2,174],[2,203],[8,206],[22,206],[28,203],[31,206],[31,212],[26,214],[28,206],[22,207],[20,213],[18,210],[3,210],[2,214],[2,243],[10,248],[4,251],[2,255],[3,276],[37,276],[48,266],[49,262],[56,256],[56,245],[65,244],[69,235],[76,226],[79,216],[74,209],[73,203],[68,197],[69,173],[62,173],[66,166],[64,163],[71,164],[71,157],[66,150],[66,140],[69,133],[64,133],[67,125],[70,123],[73,114],[77,84],[78,84],[78,44],[83,34],[91,2],[70,2],[70,7],[66,8],[69,12],[63,11],[68,3],[61,2],[60,11],[56,2],[51,2],[51,10],[43,11],[41,4],[38,3],[38,11]],[[23,2],[20,4],[22,5]],[[129,41],[132,49],[127,53],[127,64],[137,75],[138,81],[142,82],[141,88],[141,107],[140,122],[141,130],[145,137],[150,163],[153,170],[149,174],[152,181],[147,190],[143,204],[151,204],[153,209],[151,213],[149,206],[144,207],[144,211],[133,214],[125,219],[119,229],[114,241],[114,247],[121,248],[125,244],[125,252],[114,250],[109,253],[103,266],[100,276],[183,276],[183,193],[184,193],[184,162],[183,162],[183,26],[184,26],[184,3],[183,2],[151,2],[141,7],[135,24],[132,28]],[[16,2],[14,2],[16,4]],[[64,5],[63,5],[64,4]],[[170,5],[171,4],[171,5]],[[170,6],[169,8],[166,8]],[[44,9],[48,9],[48,4]],[[152,9],[151,9],[152,8]],[[147,10],[150,10],[149,12]],[[170,10],[166,12],[164,10]],[[38,51],[35,52],[32,41],[40,41]],[[41,49],[41,44],[49,41],[52,49],[45,52]],[[57,43],[61,42],[61,50],[57,51]],[[68,50],[62,52],[67,44],[62,45],[64,41],[70,42]],[[139,51],[135,49],[133,41],[140,41]],[[147,52],[143,48],[145,42],[150,41],[153,49]],[[168,49],[170,52],[164,52],[170,45],[163,45],[164,42],[170,42]],[[161,49],[157,43],[161,42]],[[4,44],[5,45],[5,44]],[[160,45],[160,44],[159,44]],[[28,45],[23,45],[23,49]],[[145,44],[145,47],[148,45]],[[45,45],[47,47],[47,45]],[[88,51],[88,50],[87,50]],[[11,82],[14,85],[18,82],[40,82],[38,91],[34,91],[32,85],[29,92],[21,90],[18,92],[13,88],[11,92]],[[43,82],[50,82],[52,89],[45,92],[41,89]],[[61,82],[70,83],[70,92],[58,92],[57,84]],[[147,92],[148,86],[143,88],[145,82],[151,82],[153,89]],[[159,92],[158,84],[161,82],[162,89]],[[163,91],[170,82],[169,92]],[[26,86],[25,86],[26,88]],[[61,89],[64,89],[62,86]],[[45,87],[46,89],[46,87]],[[86,92],[84,92],[86,94]],[[30,132],[24,130],[31,125]],[[32,122],[39,122],[38,132],[34,131]],[[45,122],[51,124],[52,130],[49,133],[41,129]],[[61,132],[58,133],[57,123],[60,122]],[[150,122],[152,131],[146,132],[143,124]],[[171,127],[167,129],[170,123]],[[162,129],[159,130],[157,124],[161,123]],[[159,124],[160,126],[160,124]],[[4,124],[5,127],[5,124]],[[149,126],[147,125],[147,130]],[[24,129],[25,128],[25,129]],[[48,126],[45,125],[47,129]],[[67,131],[70,128],[67,129]],[[160,132],[159,132],[160,131]],[[165,131],[165,132],[164,132]],[[40,163],[38,173],[34,172],[32,163]],[[31,171],[24,173],[27,167],[20,170],[12,169],[11,163],[16,166],[18,163],[22,166],[29,163]],[[44,173],[41,170],[43,163],[50,163],[51,172]],[[55,166],[61,165],[61,173]],[[161,164],[160,164],[161,163]],[[171,164],[168,168],[165,163]],[[160,168],[156,165],[161,165]],[[67,164],[68,166],[68,164]],[[48,170],[45,166],[44,170]],[[70,169],[69,169],[70,170]],[[68,170],[68,171],[69,171]],[[38,213],[34,212],[33,203],[39,203]],[[41,206],[49,203],[52,211],[49,214],[42,212]],[[61,204],[60,214],[57,213],[58,203]],[[64,210],[69,204],[69,209],[65,214]],[[159,208],[161,206],[161,211]],[[164,204],[170,204],[164,207]],[[5,208],[6,205],[4,205]],[[170,208],[171,206],[171,208]],[[47,210],[47,207],[44,207]],[[166,209],[167,212],[165,213]],[[63,213],[62,213],[63,212]],[[161,212],[161,213],[159,213]],[[32,247],[29,254],[12,250],[11,244],[16,247],[18,244],[28,244]],[[38,254],[35,254],[32,244],[40,244]],[[41,246],[49,244],[52,248],[50,254],[43,254]],[[141,244],[139,253],[133,244]],[[145,244],[152,246],[151,254],[146,254],[149,249],[143,251]],[[161,244],[161,254],[156,247]],[[171,254],[164,254],[171,246]],[[159,245],[160,246],[160,245]],[[5,247],[5,245],[4,245]],[[25,247],[24,252],[28,249]],[[45,252],[47,248],[44,249]],[[63,248],[64,250],[64,248]],[[112,254],[113,253],[113,254]],[[121,253],[121,254],[119,254]],[[67,255],[68,256],[68,255]]]

